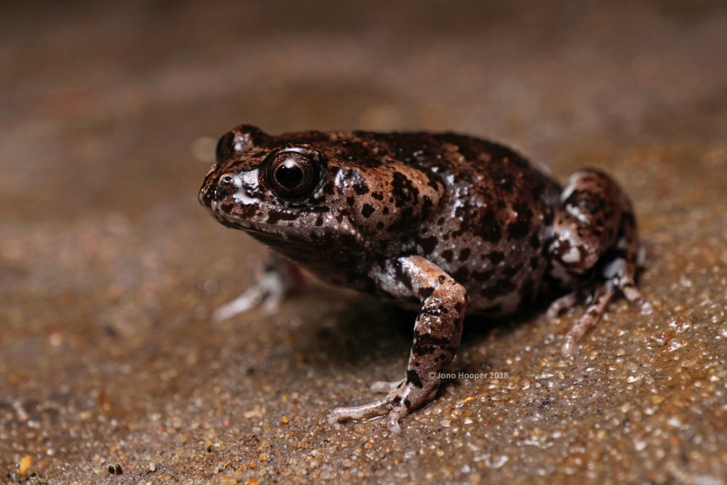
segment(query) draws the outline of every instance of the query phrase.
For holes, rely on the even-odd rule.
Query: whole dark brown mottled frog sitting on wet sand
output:
[[[465,312],[488,321],[545,295],[555,321],[585,303],[562,340],[571,356],[616,294],[651,311],[635,283],[643,246],[634,209],[618,183],[585,168],[561,187],[544,165],[478,137],[275,136],[243,124],[220,138],[198,199],[275,254],[217,319],[276,308],[300,268],[418,311],[403,378],[374,382],[371,390],[385,396],[333,409],[331,425],[385,416],[388,430],[401,433],[402,418],[435,399]]]

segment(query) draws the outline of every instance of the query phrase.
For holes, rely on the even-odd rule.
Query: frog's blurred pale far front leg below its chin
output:
[[[254,283],[235,300],[214,310],[212,318],[214,321],[224,321],[258,305],[274,312],[286,294],[301,284],[302,274],[295,263],[271,252],[265,263],[265,270],[257,276]]]

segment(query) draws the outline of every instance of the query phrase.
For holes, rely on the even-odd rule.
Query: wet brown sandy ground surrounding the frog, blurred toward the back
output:
[[[388,3],[3,2],[0,481],[727,483],[727,5]],[[402,376],[413,319],[313,284],[212,323],[265,254],[196,201],[241,122],[606,169],[655,311],[615,302],[567,359],[582,307],[467,321],[450,370],[485,377],[401,436],[329,426]]]

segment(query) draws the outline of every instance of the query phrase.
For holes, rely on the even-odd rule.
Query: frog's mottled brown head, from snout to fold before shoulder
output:
[[[383,148],[382,148],[383,147]],[[396,244],[438,201],[438,185],[365,132],[278,137],[249,125],[217,144],[200,202],[220,223],[293,259]]]

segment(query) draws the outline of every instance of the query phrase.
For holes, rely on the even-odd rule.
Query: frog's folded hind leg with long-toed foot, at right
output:
[[[549,247],[550,276],[574,291],[555,300],[547,315],[555,318],[576,304],[585,291],[590,306],[563,340],[563,353],[598,323],[616,289],[643,313],[651,305],[635,284],[640,244],[631,202],[610,177],[593,169],[571,175],[555,210],[553,242]]]

